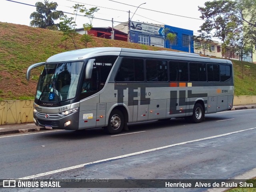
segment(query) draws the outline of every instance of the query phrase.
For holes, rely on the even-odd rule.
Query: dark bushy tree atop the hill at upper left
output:
[[[36,12],[30,14],[30,19],[32,19],[30,26],[58,30],[59,24],[54,24],[54,20],[58,20],[64,14],[62,11],[52,11],[56,10],[57,6],[56,2],[48,2],[48,0],[44,3],[36,2]]]

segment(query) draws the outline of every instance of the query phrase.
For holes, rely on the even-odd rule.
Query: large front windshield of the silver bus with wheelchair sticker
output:
[[[45,64],[39,77],[36,99],[60,102],[76,96],[83,61]]]

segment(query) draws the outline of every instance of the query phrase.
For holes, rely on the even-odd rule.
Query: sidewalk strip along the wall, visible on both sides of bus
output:
[[[233,106],[231,110],[241,110],[241,109],[256,109],[256,104],[252,105],[236,105]],[[22,123],[15,125],[0,125],[0,136],[10,135],[15,133],[28,133],[32,131],[43,131],[48,130],[44,127],[38,127],[34,123]]]

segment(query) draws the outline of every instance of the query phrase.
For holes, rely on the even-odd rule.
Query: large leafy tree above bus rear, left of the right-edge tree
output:
[[[198,32],[205,36],[220,38],[223,42],[222,53],[226,53],[226,47],[236,39],[241,28],[241,20],[238,18],[237,2],[232,0],[214,0],[205,2],[204,7],[198,6],[205,22]],[[212,34],[213,31],[213,34]]]

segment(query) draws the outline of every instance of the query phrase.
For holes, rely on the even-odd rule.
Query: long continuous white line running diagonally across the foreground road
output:
[[[71,169],[75,169],[75,168],[81,168],[83,166],[94,164],[94,163],[100,163],[100,162],[109,161],[109,160],[116,160],[116,159],[125,158],[125,157],[129,157],[129,156],[134,156],[134,155],[137,155],[137,154],[143,154],[143,153],[146,153],[146,152],[152,152],[152,151],[156,151],[156,150],[160,150],[160,149],[164,149],[164,148],[170,148],[170,147],[173,147],[173,146],[178,146],[178,145],[187,144],[187,143],[194,143],[194,142],[197,142],[197,141],[204,141],[204,140],[208,140],[208,139],[214,139],[214,138],[223,137],[223,136],[227,136],[227,135],[232,135],[232,134],[235,134],[235,133],[240,133],[240,132],[249,131],[249,130],[253,130],[253,129],[256,129],[256,127],[250,128],[250,129],[244,129],[244,130],[241,130],[241,131],[235,131],[235,132],[231,132],[231,133],[225,133],[225,134],[222,134],[222,135],[216,135],[216,136],[212,136],[212,137],[205,137],[205,138],[202,138],[202,139],[196,139],[196,140],[186,141],[186,142],[177,143],[177,144],[171,144],[171,145],[162,146],[162,147],[158,147],[158,148],[152,148],[152,149],[143,150],[143,151],[139,151],[139,152],[134,152],[134,153],[130,153],[130,154],[124,154],[124,155],[115,156],[115,157],[111,157],[111,158],[106,158],[106,159],[102,159],[102,160],[97,160],[97,161],[93,161],[93,162],[88,162],[88,163],[84,163],[84,164],[80,164],[80,165],[76,165],[76,166],[70,166],[70,167],[66,167],[66,168],[62,168],[62,169],[58,169],[58,170],[53,170],[53,171],[49,171],[49,172],[30,175],[30,176],[26,176],[26,177],[22,177],[22,178],[18,178],[18,179],[38,178],[38,177],[41,177],[41,176],[46,176],[46,175],[50,175],[50,174],[54,174],[54,173],[58,173],[58,172],[62,172],[62,171],[67,171],[67,170],[71,170]]]

